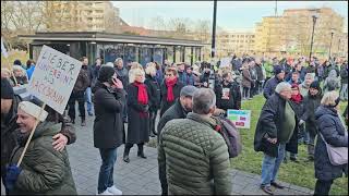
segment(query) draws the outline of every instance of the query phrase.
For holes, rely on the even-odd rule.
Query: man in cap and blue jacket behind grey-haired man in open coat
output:
[[[274,66],[274,76],[269,78],[264,86],[263,96],[268,99],[275,91],[276,86],[284,81],[285,71],[280,65]]]

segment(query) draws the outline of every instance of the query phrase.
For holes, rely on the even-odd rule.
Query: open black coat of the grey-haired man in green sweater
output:
[[[285,122],[286,101],[279,94],[275,93],[266,100],[262,108],[260,119],[254,134],[254,150],[264,151],[270,157],[278,156],[278,145],[280,138],[285,134],[282,132],[282,123]],[[292,107],[292,103],[290,103]],[[296,118],[296,127],[298,126],[298,118]],[[294,131],[293,131],[294,132]],[[276,144],[266,140],[265,137],[277,138]]]

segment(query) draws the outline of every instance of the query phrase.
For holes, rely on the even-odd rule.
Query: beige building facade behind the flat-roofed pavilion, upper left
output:
[[[119,33],[119,9],[110,1],[47,1],[45,15],[48,32]]]

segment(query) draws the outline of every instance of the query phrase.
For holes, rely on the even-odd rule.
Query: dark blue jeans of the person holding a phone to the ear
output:
[[[117,161],[117,148],[99,148],[101,166],[98,176],[98,194],[113,185],[113,164]]]

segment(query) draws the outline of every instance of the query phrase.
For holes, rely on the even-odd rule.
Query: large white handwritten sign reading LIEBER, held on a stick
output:
[[[44,46],[27,90],[62,114],[81,66],[76,59]]]

